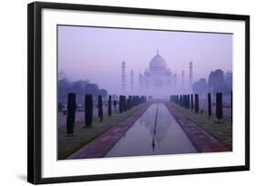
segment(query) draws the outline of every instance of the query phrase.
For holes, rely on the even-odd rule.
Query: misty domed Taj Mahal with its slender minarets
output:
[[[172,73],[169,69],[165,59],[157,54],[149,61],[148,68],[144,73],[138,73],[138,93],[146,93],[153,95],[158,90],[158,95],[168,95],[169,93],[179,93],[179,90],[190,91],[192,84],[192,63],[189,63],[189,81],[186,84],[185,72],[180,72],[180,78],[178,80],[178,74]],[[121,88],[123,93],[136,92],[136,86],[134,81],[134,71],[130,72],[130,87],[127,86],[126,78],[126,63],[122,62],[122,83]],[[160,89],[160,91],[159,91]],[[159,94],[160,93],[160,94]],[[167,93],[167,94],[166,94]]]

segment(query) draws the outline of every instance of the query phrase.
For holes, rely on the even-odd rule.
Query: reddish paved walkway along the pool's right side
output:
[[[230,152],[230,148],[200,128],[198,124],[189,120],[189,117],[179,113],[170,103],[165,103],[169,113],[173,115],[181,128],[189,137],[198,152]]]

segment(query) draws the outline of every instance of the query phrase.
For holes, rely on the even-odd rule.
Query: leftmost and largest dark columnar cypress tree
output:
[[[67,134],[74,132],[76,118],[76,94],[68,93],[67,97]]]

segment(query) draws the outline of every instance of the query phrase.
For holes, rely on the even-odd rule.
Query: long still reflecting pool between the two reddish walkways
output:
[[[197,152],[163,103],[153,103],[105,157]]]

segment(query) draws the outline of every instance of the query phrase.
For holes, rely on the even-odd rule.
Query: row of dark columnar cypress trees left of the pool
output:
[[[103,121],[103,96],[98,95],[97,97],[97,116],[100,122]],[[146,103],[146,96],[138,96],[138,95],[129,95],[128,97],[125,95],[119,95],[119,100],[113,100],[112,96],[108,96],[108,117],[112,115],[112,104],[117,109],[119,106],[119,113],[125,113],[128,110],[132,109],[134,106],[138,106],[138,104]],[[85,127],[90,127],[93,122],[93,95],[86,94],[85,95]],[[68,93],[67,96],[67,134],[73,134],[74,125],[76,119],[76,109],[77,109],[77,100],[76,93]]]

